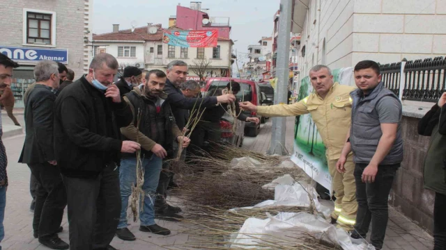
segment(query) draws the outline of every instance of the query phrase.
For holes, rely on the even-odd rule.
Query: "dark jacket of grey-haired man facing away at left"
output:
[[[19,163],[36,164],[55,160],[54,156],[54,101],[56,91],[36,84],[25,107],[26,137]]]

